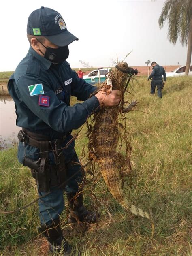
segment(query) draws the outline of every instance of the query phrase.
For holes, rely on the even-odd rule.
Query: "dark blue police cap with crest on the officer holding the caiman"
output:
[[[66,46],[79,40],[67,30],[60,13],[43,6],[33,11],[28,17],[27,33],[34,36],[45,36],[51,43],[58,46]]]

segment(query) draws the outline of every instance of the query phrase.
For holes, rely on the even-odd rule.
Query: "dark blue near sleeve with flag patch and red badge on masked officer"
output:
[[[32,87],[30,87],[31,85]],[[33,85],[38,85],[38,87],[33,87]],[[82,94],[84,86],[82,85]],[[36,91],[34,88],[37,88]],[[85,94],[88,95],[90,91],[87,90]],[[62,133],[79,128],[100,107],[96,96],[72,107],[68,106],[58,99],[48,82],[42,81],[40,77],[34,75],[20,77],[16,84],[16,92],[21,104],[30,109],[37,118],[43,120],[53,130]],[[80,92],[78,91],[78,93]],[[45,104],[42,97],[45,99]]]

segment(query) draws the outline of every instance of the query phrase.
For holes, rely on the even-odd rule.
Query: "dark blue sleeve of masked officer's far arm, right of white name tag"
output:
[[[87,100],[97,87],[86,83],[83,78],[77,77],[75,71],[71,70],[72,84],[71,95],[77,97],[77,100]]]

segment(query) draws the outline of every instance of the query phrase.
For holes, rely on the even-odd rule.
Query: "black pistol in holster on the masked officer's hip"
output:
[[[50,190],[49,164],[47,158],[39,158],[37,161],[34,161],[25,156],[23,165],[31,168],[32,176],[36,179],[39,191],[47,192]]]

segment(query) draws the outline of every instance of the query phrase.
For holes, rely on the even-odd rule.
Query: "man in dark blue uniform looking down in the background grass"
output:
[[[159,66],[155,61],[151,63],[151,66],[153,67],[153,71],[151,72],[151,75],[149,75],[147,81],[152,78],[151,81],[151,94],[155,94],[155,88],[157,87],[157,94],[159,98],[162,98],[162,92],[161,90],[164,87],[164,83],[166,82],[166,73],[162,66]],[[163,75],[163,80],[162,80]]]

